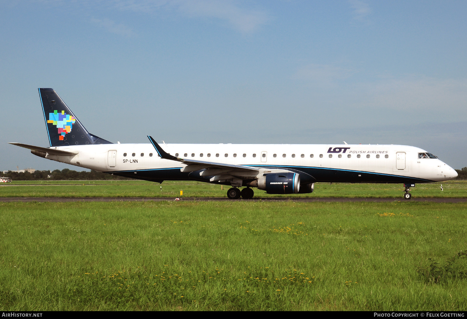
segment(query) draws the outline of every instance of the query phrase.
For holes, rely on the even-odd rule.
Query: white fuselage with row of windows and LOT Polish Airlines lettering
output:
[[[425,150],[405,145],[303,145],[303,144],[161,144],[165,152],[183,159],[194,159],[255,167],[296,168],[313,172],[316,181],[399,182],[385,176],[417,182],[450,180],[457,177],[453,168],[437,158],[419,159]],[[133,172],[183,169],[183,163],[161,159],[151,144],[100,144],[51,147],[78,152],[74,156],[48,159],[99,172]],[[178,171],[179,172],[179,171]],[[334,173],[333,173],[334,172]],[[342,177],[346,172],[378,176],[359,180],[361,175]],[[156,172],[157,173],[157,172]],[[156,174],[155,173],[155,174]],[[368,175],[372,173],[374,175]],[[339,176],[338,176],[339,175]],[[344,176],[342,175],[342,176]],[[164,180],[170,180],[166,174]],[[346,175],[347,176],[347,175]],[[174,175],[173,180],[181,179]]]

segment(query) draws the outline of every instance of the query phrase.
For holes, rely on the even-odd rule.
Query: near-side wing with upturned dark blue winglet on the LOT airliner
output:
[[[195,159],[183,159],[180,157],[175,157],[173,155],[170,155],[169,153],[166,153],[159,144],[156,143],[156,141],[148,135],[149,140],[151,141],[151,144],[154,146],[156,149],[157,154],[159,155],[160,158],[162,159],[171,159],[171,160],[176,160],[178,162],[182,162],[188,166],[182,168],[182,172],[194,172],[198,171],[200,169],[206,169],[207,171],[210,171],[212,175],[215,175],[218,173],[221,173],[220,171],[225,171],[225,172],[244,172],[244,173],[249,173],[248,175],[253,175],[257,174],[260,171],[260,168],[257,167],[250,167],[250,166],[243,166],[243,165],[233,165],[233,164],[224,164],[224,163],[216,163],[216,162],[208,162],[208,161],[203,161],[203,160],[195,160]],[[217,170],[216,170],[217,169]],[[203,176],[207,176],[207,173],[203,173]],[[223,173],[223,172],[222,172]],[[253,173],[253,174],[250,174]]]

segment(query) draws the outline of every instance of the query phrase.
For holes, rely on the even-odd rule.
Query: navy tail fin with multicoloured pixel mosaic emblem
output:
[[[89,133],[53,89],[38,89],[50,146],[113,144]]]

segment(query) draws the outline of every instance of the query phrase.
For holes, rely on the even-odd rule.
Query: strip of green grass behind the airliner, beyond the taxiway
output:
[[[443,191],[441,191],[441,185]],[[161,187],[162,186],[162,191]],[[164,181],[163,184],[140,180],[45,180],[14,181],[0,185],[0,197],[227,197],[228,186],[196,181]],[[316,183],[311,194],[266,194],[255,189],[255,197],[355,197],[402,198],[402,184]],[[467,181],[417,184],[413,198],[465,198]]]

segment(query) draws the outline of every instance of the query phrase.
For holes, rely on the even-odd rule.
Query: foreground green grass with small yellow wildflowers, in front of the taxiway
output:
[[[467,258],[452,258],[467,250],[466,213],[414,201],[0,203],[0,310],[465,311]]]

